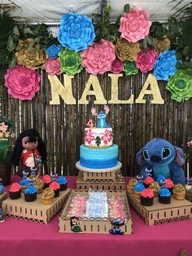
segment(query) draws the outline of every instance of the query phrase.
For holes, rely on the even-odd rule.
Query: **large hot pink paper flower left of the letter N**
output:
[[[33,69],[15,66],[7,69],[5,86],[8,93],[15,99],[33,99],[35,93],[40,90],[41,76]]]

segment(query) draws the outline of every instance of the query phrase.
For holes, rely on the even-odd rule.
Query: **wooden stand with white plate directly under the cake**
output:
[[[120,172],[122,164],[107,169],[89,169],[81,166],[80,161],[76,162],[76,168],[79,170],[76,179],[77,189],[102,189],[102,190],[125,190],[123,175]]]

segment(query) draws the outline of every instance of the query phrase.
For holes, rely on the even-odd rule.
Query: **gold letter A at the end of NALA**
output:
[[[149,85],[151,85],[151,90],[147,90],[147,87]],[[135,100],[135,103],[145,104],[146,99],[143,99],[144,95],[153,95],[151,104],[164,104],[164,99],[162,99],[161,97],[157,79],[152,74],[149,74],[149,76],[146,78],[146,82],[142,87],[142,91],[140,92],[140,95],[138,95],[138,98]]]

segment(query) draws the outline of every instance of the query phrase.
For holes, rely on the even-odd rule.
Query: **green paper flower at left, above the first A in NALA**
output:
[[[71,50],[62,50],[59,52],[61,70],[69,76],[80,73],[83,69],[81,66],[81,53]]]

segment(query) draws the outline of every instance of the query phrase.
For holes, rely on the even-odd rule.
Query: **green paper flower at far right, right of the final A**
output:
[[[178,102],[192,98],[192,70],[177,70],[177,73],[168,79],[166,89],[172,93],[171,98]]]

